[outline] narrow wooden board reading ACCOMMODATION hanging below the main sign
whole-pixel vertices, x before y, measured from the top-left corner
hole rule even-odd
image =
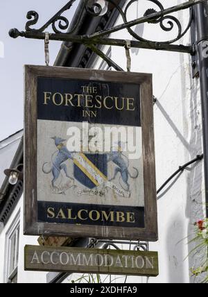
[[[156,252],[25,246],[26,271],[157,276]]]

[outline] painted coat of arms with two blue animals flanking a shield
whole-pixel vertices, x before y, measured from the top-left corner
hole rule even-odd
[[[69,188],[73,188],[79,196],[105,195],[108,189],[119,196],[131,196],[130,179],[137,179],[139,170],[132,167],[134,172],[130,172],[130,162],[122,151],[121,142],[118,143],[118,149],[110,153],[76,153],[67,149],[67,139],[51,139],[57,149],[51,155],[51,162],[44,162],[42,171],[51,175],[53,194],[66,194]],[[72,174],[67,169],[67,162],[73,167]],[[109,163],[113,168],[110,176]],[[63,183],[66,178],[67,183]],[[80,185],[84,188],[80,189]]]

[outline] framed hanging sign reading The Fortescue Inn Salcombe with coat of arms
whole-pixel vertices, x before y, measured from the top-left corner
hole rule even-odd
[[[152,76],[25,77],[25,234],[157,240]]]

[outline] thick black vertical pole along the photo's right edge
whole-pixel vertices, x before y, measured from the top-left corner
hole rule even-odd
[[[208,217],[208,5],[207,1],[196,6],[197,48],[202,102],[202,132],[205,166],[205,201]]]

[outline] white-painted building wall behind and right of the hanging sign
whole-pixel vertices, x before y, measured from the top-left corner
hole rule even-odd
[[[183,1],[161,1],[164,7],[171,7]],[[139,1],[130,6],[128,18],[136,19],[145,8],[154,7],[150,1]],[[147,3],[147,6],[144,4]],[[182,25],[188,24],[189,10],[177,12]],[[121,24],[121,18],[117,24]],[[170,40],[175,35],[162,31],[155,24],[138,25],[133,29],[151,40]],[[176,32],[176,31],[173,31]],[[110,37],[132,40],[126,31]],[[190,44],[189,34],[180,44]],[[179,42],[178,42],[179,43]],[[105,52],[107,48],[105,49]],[[185,53],[131,49],[131,71],[153,74],[153,94],[157,98],[154,106],[155,157],[157,189],[178,167],[202,153],[202,114],[200,106],[199,79],[192,79],[191,57]],[[112,47],[112,60],[126,69],[125,49]],[[98,68],[101,60],[96,62]],[[205,216],[205,187],[203,162],[185,170],[158,196],[159,241],[150,244],[150,251],[159,252],[159,276],[148,282],[198,282],[190,277],[190,269],[202,255],[189,255],[194,244],[188,244],[194,235],[193,223]],[[189,237],[189,238],[188,238]],[[187,258],[187,259],[186,259]],[[186,259],[186,260],[185,260]],[[139,282],[139,278],[128,278]],[[143,281],[144,280],[143,278]]]

